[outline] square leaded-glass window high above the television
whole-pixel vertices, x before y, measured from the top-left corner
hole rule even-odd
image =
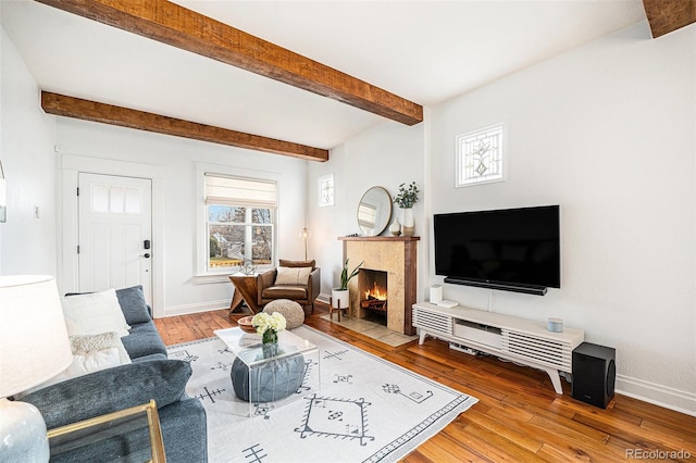
[[[457,137],[457,187],[505,180],[505,125]]]

